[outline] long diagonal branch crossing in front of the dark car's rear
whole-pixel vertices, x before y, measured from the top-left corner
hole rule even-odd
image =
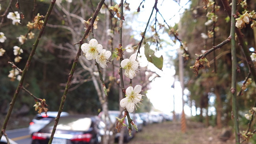
[[[55,133],[55,131],[56,131],[56,127],[57,127],[58,122],[59,122],[59,117],[60,117],[60,114],[61,114],[61,112],[62,112],[62,110],[63,110],[65,100],[66,100],[66,98],[67,98],[67,93],[68,93],[68,91],[69,91],[69,87],[70,87],[70,84],[71,84],[71,80],[72,80],[74,71],[75,71],[75,69],[76,69],[76,65],[77,65],[77,63],[78,63],[78,58],[79,58],[80,55],[81,55],[81,51],[82,51],[82,50],[81,50],[81,45],[83,44],[83,41],[85,40],[85,38],[88,37],[91,28],[93,28],[93,24],[94,24],[94,22],[95,22],[95,19],[96,19],[97,15],[98,15],[98,13],[99,13],[99,11],[100,11],[100,9],[101,9],[103,3],[104,3],[104,0],[101,0],[101,1],[98,3],[98,6],[97,6],[97,8],[96,8],[96,10],[95,10],[95,13],[93,14],[93,17],[91,18],[90,24],[88,25],[87,29],[85,30],[85,33],[84,33],[82,39],[81,39],[79,42],[76,43],[76,44],[80,44],[80,46],[79,46],[78,52],[77,52],[77,54],[76,54],[76,57],[75,57],[75,59],[74,59],[73,65],[72,65],[72,68],[71,68],[70,73],[69,73],[69,78],[68,78],[68,81],[67,81],[67,85],[66,85],[66,87],[65,87],[65,90],[64,90],[64,92],[63,92],[63,96],[62,96],[62,98],[61,98],[61,103],[60,103],[60,105],[59,105],[58,114],[57,114],[57,117],[56,117],[56,119],[55,119],[54,127],[53,127],[53,129],[52,129],[52,134],[51,134],[51,137],[50,137],[50,140],[49,140],[49,143],[48,143],[48,144],[51,144],[51,143],[52,143],[52,139],[53,139],[54,133]]]

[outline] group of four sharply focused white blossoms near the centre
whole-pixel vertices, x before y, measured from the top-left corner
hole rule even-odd
[[[111,52],[103,49],[101,44],[98,44],[96,39],[91,39],[88,43],[81,45],[81,50],[85,55],[86,59],[91,60],[95,59],[96,63],[102,68],[106,68]],[[130,79],[133,79],[137,73],[137,68],[139,63],[136,61],[136,54],[132,54],[129,59],[123,59],[121,61],[121,67],[125,69],[124,75]],[[137,103],[140,103],[141,99],[141,85],[136,85],[133,87],[128,87],[126,89],[126,98],[123,98],[120,101],[121,107],[127,109],[128,112],[132,113],[134,108],[138,106]]]

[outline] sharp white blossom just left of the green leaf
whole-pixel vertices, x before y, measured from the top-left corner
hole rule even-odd
[[[125,69],[124,75],[133,79],[139,67],[139,63],[136,61],[136,54],[132,54],[129,59],[123,59],[121,61],[121,67]]]

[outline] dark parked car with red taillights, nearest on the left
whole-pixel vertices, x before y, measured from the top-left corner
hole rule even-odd
[[[32,144],[48,144],[55,121],[32,135]],[[105,124],[98,116],[64,116],[59,119],[52,144],[100,144]]]

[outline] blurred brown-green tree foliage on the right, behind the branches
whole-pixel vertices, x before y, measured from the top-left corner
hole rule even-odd
[[[229,36],[230,24],[226,23],[225,18],[227,17],[226,11],[224,11],[221,0],[216,0],[217,5],[221,6],[219,11],[216,11],[218,20],[216,26],[219,30],[215,32],[215,46]],[[247,1],[249,4],[249,1]],[[252,4],[252,3],[251,3]],[[253,3],[255,6],[255,3]],[[210,68],[205,66],[204,69],[199,71],[198,76],[195,76],[193,70],[189,66],[193,66],[195,63],[195,54],[203,54],[201,50],[209,50],[213,46],[213,38],[208,38],[207,41],[202,39],[201,33],[206,33],[207,30],[211,30],[212,26],[206,27],[204,23],[207,21],[206,13],[211,11],[211,9],[203,9],[204,4],[200,0],[191,0],[191,6],[187,9],[180,19],[179,24],[176,24],[176,28],[179,29],[179,37],[182,42],[186,42],[187,51],[192,59],[184,58],[184,76],[185,85],[191,92],[189,95],[188,104],[191,103],[190,100],[194,100],[195,106],[200,109],[208,109],[208,105],[202,105],[200,103],[204,99],[204,93],[215,94],[215,108],[217,109],[221,106],[221,121],[224,126],[233,125],[231,121],[231,97],[230,97],[230,83],[231,83],[231,51],[230,44],[226,44],[221,48],[215,50],[216,57],[216,70],[214,68],[213,53],[207,55],[208,61],[210,61]],[[241,6],[237,6],[239,11],[243,11]],[[254,36],[253,31],[250,26],[242,30],[245,33],[245,41],[248,43],[248,48],[254,46]],[[240,72],[237,73],[237,92],[241,90],[241,84],[249,73],[247,68],[247,63],[243,58],[243,53],[241,52],[239,46],[237,45],[237,61]],[[175,61],[176,73],[178,73],[178,61]],[[215,73],[216,72],[216,73]],[[250,85],[245,91],[242,92],[243,95],[237,97],[238,109],[239,111],[249,110],[254,105],[255,101],[255,85]],[[220,97],[221,103],[217,102],[217,96]],[[207,98],[207,97],[205,97]],[[209,98],[209,96],[208,96]],[[206,103],[208,100],[206,100]],[[218,105],[219,104],[219,105]],[[191,104],[190,104],[191,105]],[[214,116],[213,116],[214,117]],[[242,120],[244,115],[241,115]],[[198,116],[195,116],[196,120],[199,120]],[[215,126],[216,118],[209,118],[210,124]],[[241,122],[241,124],[246,124]],[[247,122],[248,124],[248,122]]]

